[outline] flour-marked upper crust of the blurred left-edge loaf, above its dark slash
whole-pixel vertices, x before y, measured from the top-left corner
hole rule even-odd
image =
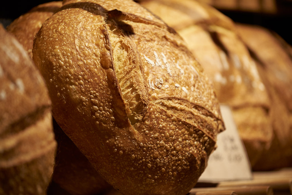
[[[2,26],[0,33],[0,135],[4,137],[34,122],[25,121],[25,116],[34,119],[50,111],[51,101],[43,78],[20,43]]]

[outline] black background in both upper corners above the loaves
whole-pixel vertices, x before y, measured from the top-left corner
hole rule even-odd
[[[6,27],[15,18],[26,13],[34,6],[49,2],[50,0],[9,1],[2,2],[0,6],[0,22]],[[122,1],[122,0],[121,0]],[[254,1],[254,0],[250,0]],[[277,34],[292,45],[292,0],[277,0],[276,13],[263,13],[261,11],[240,11],[218,8],[235,22],[261,25]]]

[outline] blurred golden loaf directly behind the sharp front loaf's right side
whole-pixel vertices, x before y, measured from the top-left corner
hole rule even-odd
[[[270,147],[270,102],[234,22],[194,0],[149,0],[141,4],[173,27],[188,43],[214,83],[220,103],[230,105],[253,166]]]

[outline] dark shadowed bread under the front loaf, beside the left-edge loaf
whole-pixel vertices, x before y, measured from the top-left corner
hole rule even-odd
[[[62,194],[60,189],[55,188],[57,185],[71,195],[102,194],[112,189],[55,120],[53,127],[58,148],[52,177],[54,184],[50,185],[49,194]]]

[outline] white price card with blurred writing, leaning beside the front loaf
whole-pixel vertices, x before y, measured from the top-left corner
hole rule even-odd
[[[220,105],[220,110],[226,130],[218,134],[217,149],[210,155],[198,182],[252,179],[251,166],[232,111],[227,105]]]

